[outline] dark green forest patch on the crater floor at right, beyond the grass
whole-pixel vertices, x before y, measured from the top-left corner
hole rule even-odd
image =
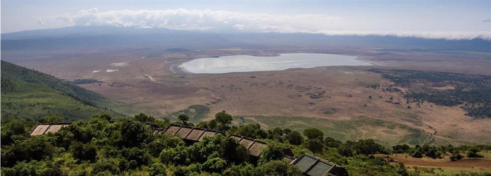
[[[466,115],[491,118],[491,76],[414,70],[370,71],[381,73],[400,87],[408,88],[404,94],[408,102],[424,101],[440,106],[461,106]],[[432,87],[452,86],[453,89],[438,90]],[[386,88],[394,89],[392,87]]]

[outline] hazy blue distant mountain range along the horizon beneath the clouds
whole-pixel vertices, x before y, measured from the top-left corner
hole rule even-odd
[[[1,34],[1,50],[117,47],[351,46],[388,49],[491,52],[484,39],[445,40],[394,36],[328,36],[307,33],[213,33],[110,26],[72,26]]]

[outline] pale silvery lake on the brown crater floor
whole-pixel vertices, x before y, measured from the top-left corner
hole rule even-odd
[[[355,56],[315,53],[290,53],[273,57],[236,55],[195,59],[180,65],[180,67],[191,73],[229,73],[316,66],[371,66],[370,63],[356,58]]]

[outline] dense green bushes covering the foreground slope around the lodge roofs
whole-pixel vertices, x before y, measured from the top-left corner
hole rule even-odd
[[[387,150],[371,139],[341,142],[329,136],[324,138],[324,134],[317,129],[306,130],[310,137],[304,139],[297,131],[280,128],[265,131],[257,124],[241,127],[225,124],[220,127],[227,128],[227,133],[256,136],[257,140],[266,142],[267,146],[256,160],[249,158],[246,147],[223,135],[205,137],[200,142],[187,145],[178,136],[154,135],[143,123],[152,121],[152,118],[145,116],[139,114],[130,119],[116,118],[110,123],[108,120],[113,118],[101,115],[74,122],[59,132],[40,136],[26,135],[28,128],[32,127],[26,121],[8,121],[1,126],[1,174],[301,176],[302,172],[296,166],[284,162],[285,147],[293,149],[295,156],[304,152],[315,153],[345,166],[354,176],[412,174],[404,165],[388,164],[383,158],[374,157],[373,154],[386,154]],[[158,121],[154,122],[160,123]],[[9,140],[9,143],[3,144],[3,140]],[[463,157],[459,153],[467,152],[467,155],[475,156],[472,153],[491,150],[491,146],[397,145],[392,149],[415,157],[438,157],[451,153],[451,158],[457,160]]]

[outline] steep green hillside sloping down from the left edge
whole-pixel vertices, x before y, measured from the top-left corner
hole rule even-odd
[[[61,116],[64,121],[115,114],[103,96],[48,74],[1,61],[1,119]]]

